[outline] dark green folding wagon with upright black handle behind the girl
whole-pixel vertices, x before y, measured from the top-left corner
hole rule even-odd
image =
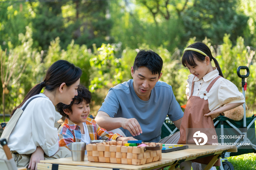
[[[246,69],[246,75],[241,75],[240,70]],[[245,98],[245,90],[247,83],[245,82],[245,78],[247,78],[250,74],[250,70],[246,66],[239,66],[237,68],[238,77],[242,78],[242,93]],[[237,156],[248,153],[256,153],[256,136],[255,136],[255,120],[256,116],[247,117],[245,113],[245,103],[244,107],[244,118],[240,121],[231,120],[225,116],[219,116],[214,119],[214,127],[216,129],[216,133],[218,136],[231,136],[229,139],[218,139],[219,143],[241,143],[237,146],[238,152],[226,152],[225,155],[222,155],[222,162],[220,170],[234,169],[233,165],[227,161],[227,157]],[[250,135],[247,135],[250,134]],[[236,138],[236,136],[240,136],[240,138]],[[233,138],[234,137],[234,138]],[[244,145],[243,145],[244,144]],[[246,145],[245,145],[246,144]]]

